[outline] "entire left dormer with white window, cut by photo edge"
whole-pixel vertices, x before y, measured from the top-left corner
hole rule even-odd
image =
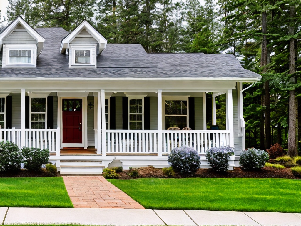
[[[45,39],[22,17],[17,17],[0,34],[2,67],[36,67],[44,42]]]

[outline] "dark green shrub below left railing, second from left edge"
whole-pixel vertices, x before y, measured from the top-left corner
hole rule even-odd
[[[48,149],[23,147],[21,150],[24,157],[24,168],[28,170],[41,170],[42,165],[49,162]]]

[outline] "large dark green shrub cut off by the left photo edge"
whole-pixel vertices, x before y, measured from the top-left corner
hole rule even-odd
[[[0,172],[18,171],[23,156],[18,146],[10,141],[0,142]]]

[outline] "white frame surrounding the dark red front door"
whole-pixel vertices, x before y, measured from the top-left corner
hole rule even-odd
[[[59,121],[60,125],[61,148],[88,148],[88,94],[89,92],[57,92],[57,121]],[[82,143],[63,143],[63,99],[82,99]]]

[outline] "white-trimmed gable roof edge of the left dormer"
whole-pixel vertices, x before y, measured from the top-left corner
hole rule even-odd
[[[40,53],[42,52],[43,48],[44,48],[44,43],[45,43],[45,39],[36,31],[34,30],[32,27],[29,26],[29,24],[27,24],[25,22],[25,20],[18,16],[13,22],[11,22],[4,30],[2,30],[2,32],[0,33],[0,50],[2,49],[2,44],[3,44],[3,39],[5,39],[11,32],[14,31],[14,29],[18,26],[21,25],[22,27],[24,27],[24,29],[37,41],[37,45],[38,45],[38,50],[37,50],[37,55],[40,55]]]

